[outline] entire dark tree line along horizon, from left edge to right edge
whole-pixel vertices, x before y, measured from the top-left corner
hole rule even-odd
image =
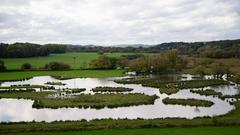
[[[159,53],[176,50],[181,55],[208,58],[240,58],[240,39],[220,40],[209,42],[169,42],[149,47],[116,47],[94,45],[61,45],[61,44],[33,44],[33,43],[0,43],[0,58],[24,58],[47,56],[50,53],[65,52],[146,52]]]

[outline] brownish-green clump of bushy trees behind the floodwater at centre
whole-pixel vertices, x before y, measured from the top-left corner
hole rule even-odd
[[[129,68],[138,73],[169,73],[181,71],[187,61],[177,51],[163,52],[157,55],[122,55],[120,58],[99,56],[89,65],[93,69]]]

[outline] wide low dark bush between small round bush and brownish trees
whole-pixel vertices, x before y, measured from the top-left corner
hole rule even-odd
[[[45,69],[48,70],[68,70],[70,66],[68,64],[62,62],[50,62],[49,64],[45,65]]]

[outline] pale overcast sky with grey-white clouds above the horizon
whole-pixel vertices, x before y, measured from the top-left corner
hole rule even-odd
[[[156,44],[240,38],[240,0],[0,0],[0,42]]]

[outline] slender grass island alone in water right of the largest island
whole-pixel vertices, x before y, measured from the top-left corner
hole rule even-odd
[[[162,100],[164,104],[173,104],[173,105],[189,105],[189,106],[203,106],[203,107],[210,107],[214,103],[207,100],[200,100],[200,99],[177,99],[177,98],[164,98]]]

